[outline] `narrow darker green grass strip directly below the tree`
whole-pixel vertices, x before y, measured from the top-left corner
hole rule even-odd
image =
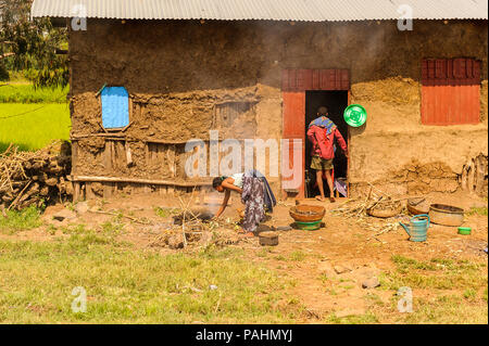
[[[68,90],[68,87],[35,89],[30,84],[10,82],[0,87],[0,103],[66,103]]]

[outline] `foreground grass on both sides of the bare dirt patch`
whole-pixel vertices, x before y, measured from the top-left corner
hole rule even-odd
[[[240,247],[158,254],[121,241],[125,225],[114,217],[97,229],[83,223],[48,227],[50,240],[26,241],[39,227],[32,207],[0,216],[0,323],[302,323],[306,309],[291,294],[297,278]],[[24,233],[25,234],[25,233]],[[24,235],[22,235],[23,238]],[[264,247],[259,257],[267,256]],[[253,255],[250,255],[253,256]],[[291,265],[308,255],[284,257]],[[381,285],[365,292],[364,315],[324,315],[322,323],[487,324],[487,262],[393,255]],[[215,290],[211,289],[215,285]],[[86,291],[86,311],[72,304]],[[409,286],[413,312],[399,313],[396,292]],[[386,302],[380,291],[390,293]],[[334,293],[330,299],[335,299]]]

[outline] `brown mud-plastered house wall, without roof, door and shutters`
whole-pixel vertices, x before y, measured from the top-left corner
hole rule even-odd
[[[366,181],[411,192],[419,179],[456,190],[466,163],[487,157],[487,22],[415,21],[413,31],[396,22],[89,21],[87,28],[70,33],[74,175],[189,181],[188,139],[205,140],[210,129],[223,139],[281,138],[284,68],[350,71],[351,102],[368,112],[366,126],[350,132],[352,193]],[[421,125],[422,59],[462,56],[482,62],[481,123]],[[124,86],[131,99],[130,126],[112,138],[118,151],[99,124],[104,84]],[[278,190],[279,178],[271,180]]]

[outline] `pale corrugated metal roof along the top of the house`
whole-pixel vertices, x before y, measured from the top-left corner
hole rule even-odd
[[[33,17],[72,17],[76,5],[87,17],[117,20],[398,20],[409,4],[415,20],[487,20],[488,0],[34,0]]]

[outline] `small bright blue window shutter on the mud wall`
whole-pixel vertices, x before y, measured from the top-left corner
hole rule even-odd
[[[102,125],[118,128],[129,125],[129,94],[124,87],[105,87],[102,90]]]

